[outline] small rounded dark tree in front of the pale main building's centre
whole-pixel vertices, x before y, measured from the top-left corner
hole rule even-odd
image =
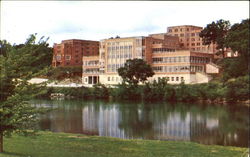
[[[124,83],[137,86],[139,82],[145,82],[148,77],[154,75],[149,64],[142,59],[129,59],[124,67],[118,69],[118,74],[122,77]]]

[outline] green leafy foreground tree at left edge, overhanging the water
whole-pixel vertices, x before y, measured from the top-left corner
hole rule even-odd
[[[35,43],[31,35],[24,46],[9,47],[0,55],[0,152],[3,152],[3,136],[12,132],[33,133],[39,110],[28,100],[39,94],[42,86],[29,84],[28,80],[47,72],[49,66],[43,63],[47,40]]]

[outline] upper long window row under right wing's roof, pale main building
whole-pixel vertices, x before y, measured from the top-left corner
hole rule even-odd
[[[208,57],[196,57],[196,56],[176,56],[176,57],[157,57],[152,58],[153,63],[208,63],[210,59]]]

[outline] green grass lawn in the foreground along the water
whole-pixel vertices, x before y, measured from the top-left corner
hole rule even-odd
[[[247,148],[39,132],[4,138],[0,157],[246,157]]]

